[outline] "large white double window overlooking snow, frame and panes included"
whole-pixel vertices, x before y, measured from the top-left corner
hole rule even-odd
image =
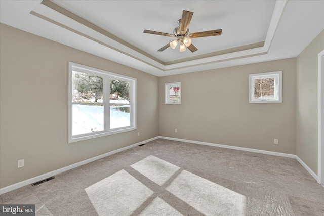
[[[69,143],[136,129],[136,79],[69,62]]]

